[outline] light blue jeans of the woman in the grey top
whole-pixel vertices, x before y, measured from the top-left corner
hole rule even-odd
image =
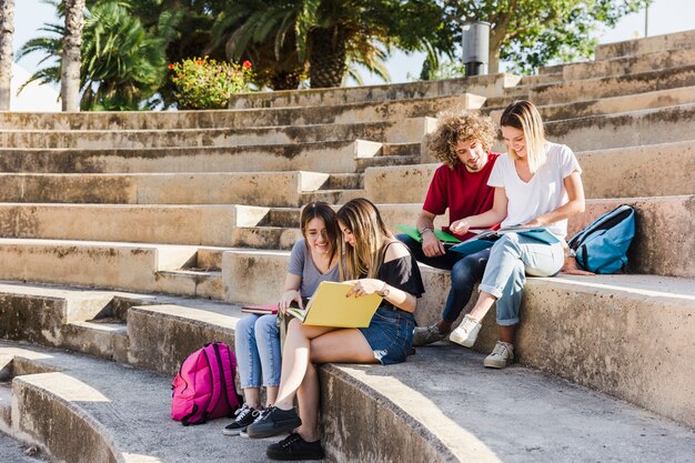
[[[241,387],[280,385],[282,358],[278,315],[249,313],[236,323],[234,350]]]

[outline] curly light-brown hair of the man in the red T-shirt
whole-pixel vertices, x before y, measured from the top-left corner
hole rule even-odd
[[[427,140],[427,148],[451,169],[461,162],[455,151],[457,142],[475,139],[490,151],[497,138],[492,119],[479,111],[443,111],[436,117],[439,122]]]

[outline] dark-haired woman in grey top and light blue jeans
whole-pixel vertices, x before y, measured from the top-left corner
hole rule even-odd
[[[279,310],[284,312],[292,302],[302,305],[322,281],[340,281],[338,266],[339,228],[335,212],[325,202],[304,207],[300,218],[303,240],[292,248],[284,291]],[[261,410],[261,382],[266,391],[266,404],[273,404],[280,385],[281,351],[278,315],[246,314],[239,323],[234,348],[244,404],[234,421],[222,431],[238,435],[253,422]]]

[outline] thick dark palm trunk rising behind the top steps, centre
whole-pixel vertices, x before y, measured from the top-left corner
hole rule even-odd
[[[310,32],[309,79],[312,89],[340,87],[348,69],[348,34],[339,27]]]

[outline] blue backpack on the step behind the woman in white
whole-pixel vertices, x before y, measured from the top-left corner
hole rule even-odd
[[[627,249],[635,235],[635,210],[621,205],[594,220],[572,236],[567,245],[577,264],[594,273],[615,273],[627,263]]]

